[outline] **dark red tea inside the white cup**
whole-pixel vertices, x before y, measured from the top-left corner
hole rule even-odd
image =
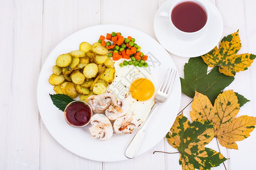
[[[207,23],[207,12],[199,3],[184,1],[171,11],[171,21],[183,32],[196,32]]]

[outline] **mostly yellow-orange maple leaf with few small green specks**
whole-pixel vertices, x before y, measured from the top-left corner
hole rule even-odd
[[[192,121],[200,118],[212,122],[214,136],[217,137],[220,145],[238,149],[236,141],[249,137],[256,125],[256,117],[236,117],[239,111],[240,104],[233,90],[218,95],[214,106],[207,96],[196,92],[190,116]]]

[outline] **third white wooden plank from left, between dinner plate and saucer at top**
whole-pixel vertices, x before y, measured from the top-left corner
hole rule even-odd
[[[110,11],[113,7],[115,10]],[[101,23],[126,25],[155,38],[153,25],[157,9],[158,0],[102,1]],[[153,155],[152,152],[155,150],[164,150],[163,140],[138,158],[118,163],[104,163],[104,169],[164,169],[164,155]]]

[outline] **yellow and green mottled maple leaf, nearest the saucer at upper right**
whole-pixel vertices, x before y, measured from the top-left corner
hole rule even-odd
[[[234,76],[239,71],[247,70],[255,59],[254,54],[238,54],[241,49],[241,41],[238,31],[221,40],[220,48],[217,46],[209,53],[201,56],[209,67],[218,66],[220,73]]]

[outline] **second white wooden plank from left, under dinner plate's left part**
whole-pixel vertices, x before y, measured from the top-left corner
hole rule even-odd
[[[100,0],[49,1],[44,0],[43,57],[65,37],[79,29],[100,24]],[[59,145],[41,124],[40,169],[102,169],[94,162],[72,154]]]

